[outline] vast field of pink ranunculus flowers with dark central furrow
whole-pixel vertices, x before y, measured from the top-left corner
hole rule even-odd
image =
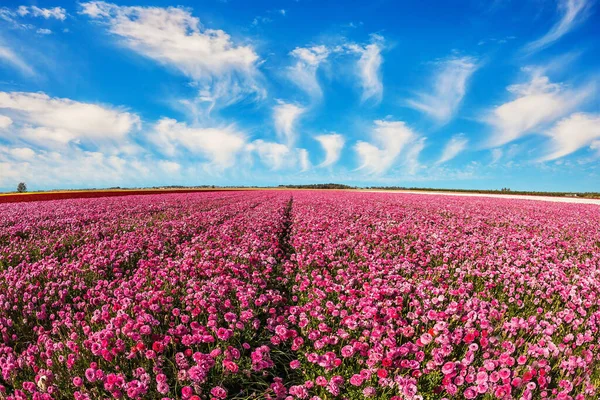
[[[0,398],[597,399],[600,208],[252,191],[0,204]]]

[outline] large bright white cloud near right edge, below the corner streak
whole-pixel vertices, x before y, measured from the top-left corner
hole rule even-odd
[[[529,82],[508,87],[515,97],[488,112],[483,120],[493,134],[489,147],[502,146],[524,135],[536,133],[549,123],[574,111],[594,93],[594,85],[568,88],[550,82],[539,70],[530,70]]]

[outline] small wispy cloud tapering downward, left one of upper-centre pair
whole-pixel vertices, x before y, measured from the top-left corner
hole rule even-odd
[[[317,79],[317,70],[319,65],[327,60],[329,53],[329,49],[323,45],[296,47],[290,52],[296,63],[288,68],[288,77],[313,98],[319,98],[323,94]]]

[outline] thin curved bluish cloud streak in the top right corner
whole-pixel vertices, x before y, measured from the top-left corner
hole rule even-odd
[[[588,17],[591,4],[591,0],[559,0],[560,20],[544,36],[525,46],[525,50],[533,52],[543,49],[563,37]]]

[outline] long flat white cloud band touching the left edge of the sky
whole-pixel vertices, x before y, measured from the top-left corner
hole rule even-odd
[[[136,114],[122,109],[45,93],[0,92],[0,112],[13,121],[11,130],[16,130],[18,139],[42,147],[80,141],[121,142],[141,124]]]

